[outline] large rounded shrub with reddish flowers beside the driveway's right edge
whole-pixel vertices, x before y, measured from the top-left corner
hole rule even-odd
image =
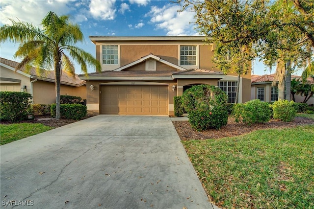
[[[197,131],[220,129],[228,122],[228,96],[217,87],[193,86],[183,93],[182,102],[191,127]]]

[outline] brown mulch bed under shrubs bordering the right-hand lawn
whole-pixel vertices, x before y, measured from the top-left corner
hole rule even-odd
[[[234,118],[228,118],[228,124],[220,130],[205,130],[197,132],[191,128],[188,121],[172,121],[181,140],[189,139],[220,139],[224,137],[235,137],[250,133],[255,130],[269,128],[293,128],[298,125],[314,124],[314,120],[306,117],[295,117],[292,122],[283,122],[279,120],[271,120],[267,123],[244,125],[236,123]]]

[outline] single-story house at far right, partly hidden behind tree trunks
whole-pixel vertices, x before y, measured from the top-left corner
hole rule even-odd
[[[271,86],[274,80],[275,74],[270,75],[252,75],[251,76],[251,99],[260,99],[265,102],[274,102],[278,100],[278,87]],[[291,80],[293,78],[301,79],[301,76],[291,75]],[[295,94],[295,101],[302,102],[304,97]],[[290,100],[292,100],[292,94],[290,94]],[[310,98],[307,102],[308,104],[314,103],[314,98]]]

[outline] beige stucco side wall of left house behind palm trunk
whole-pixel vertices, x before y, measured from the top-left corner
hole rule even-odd
[[[55,103],[55,83],[37,80],[33,82],[34,104]],[[75,87],[61,84],[60,95],[80,96],[86,99],[86,86]]]

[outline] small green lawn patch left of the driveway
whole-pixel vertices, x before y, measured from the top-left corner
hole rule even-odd
[[[0,145],[24,139],[51,129],[51,127],[40,123],[0,124]]]

